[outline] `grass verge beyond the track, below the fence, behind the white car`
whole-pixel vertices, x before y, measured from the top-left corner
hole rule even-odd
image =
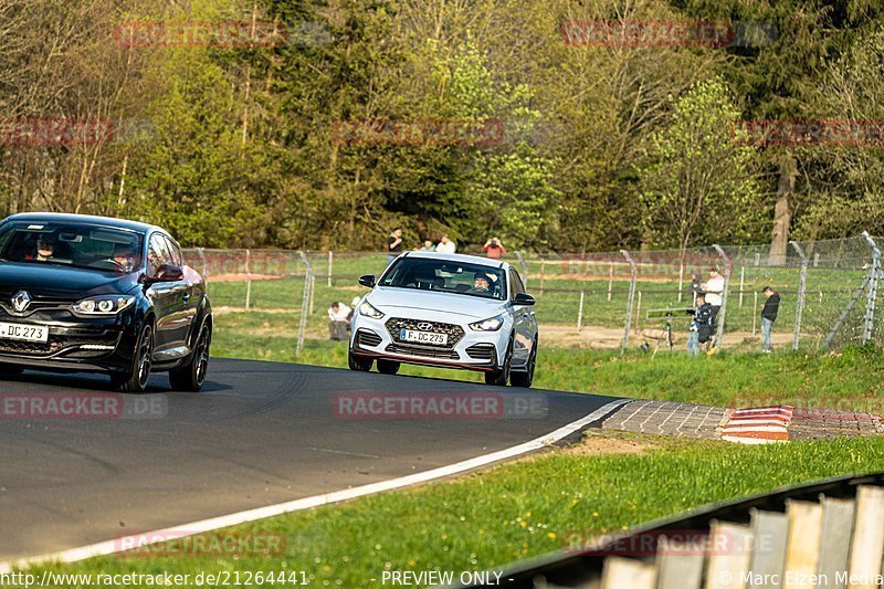
[[[347,366],[347,344],[305,340],[295,355],[298,315],[224,313],[217,316],[213,354],[233,358]],[[541,334],[543,335],[543,334]],[[543,341],[543,339],[541,339]],[[884,354],[686,354],[552,348],[541,344],[536,388],[690,401],[725,407],[790,402],[803,407],[884,413]],[[403,365],[402,375],[478,382],[482,375]]]

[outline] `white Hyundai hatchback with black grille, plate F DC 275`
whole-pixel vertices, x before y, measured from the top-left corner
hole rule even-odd
[[[394,375],[401,362],[485,372],[488,385],[530,387],[537,362],[533,296],[516,269],[474,255],[407,252],[352,317],[349,367]]]

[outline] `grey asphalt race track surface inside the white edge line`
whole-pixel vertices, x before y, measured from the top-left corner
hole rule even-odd
[[[0,381],[0,401],[102,397],[107,382],[25,372]],[[125,406],[112,417],[2,414],[0,560],[414,474],[538,438],[613,400],[219,359],[200,393],[169,390],[165,375],[150,385],[143,396],[108,393]],[[344,418],[340,408],[359,406],[336,396],[354,392],[480,395],[503,400],[504,409],[478,404],[485,409],[465,418]]]

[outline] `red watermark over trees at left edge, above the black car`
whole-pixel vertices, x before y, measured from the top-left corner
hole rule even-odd
[[[157,127],[148,119],[12,118],[0,120],[0,146],[73,147],[148,143]]]

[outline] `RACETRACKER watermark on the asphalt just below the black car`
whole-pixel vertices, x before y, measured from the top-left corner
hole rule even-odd
[[[169,414],[165,395],[133,397],[118,392],[4,392],[0,420],[159,419]]]

